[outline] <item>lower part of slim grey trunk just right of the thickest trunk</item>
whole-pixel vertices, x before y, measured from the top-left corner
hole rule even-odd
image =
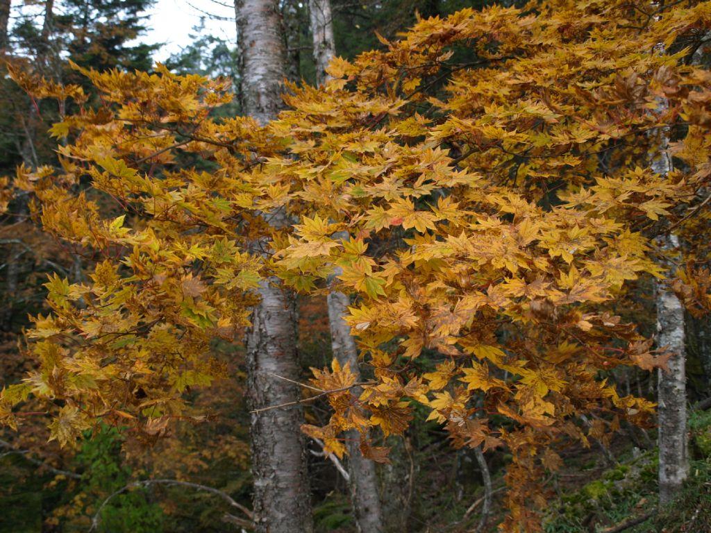
[[[338,273],[336,274],[338,275]],[[350,366],[356,380],[360,381],[358,368],[358,350],[351,337],[351,328],[343,321],[348,312],[348,296],[339,291],[328,294],[328,322],[331,326],[331,348],[341,366]],[[356,391],[357,393],[357,391]],[[360,453],[360,435],[352,429],[346,434],[348,446],[348,471],[351,475],[351,503],[355,514],[355,523],[361,533],[380,533],[383,531],[383,517],[378,496],[378,478],[375,475],[375,463]]]

